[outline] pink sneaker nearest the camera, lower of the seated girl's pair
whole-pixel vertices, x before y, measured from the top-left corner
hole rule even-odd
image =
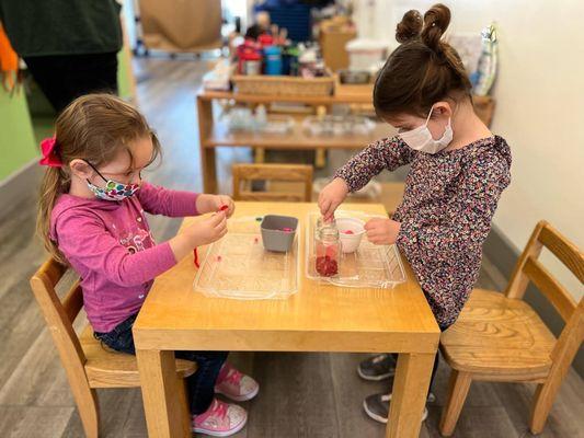
[[[241,406],[227,404],[215,399],[210,407],[193,416],[193,431],[211,437],[230,437],[248,423],[248,413]]]

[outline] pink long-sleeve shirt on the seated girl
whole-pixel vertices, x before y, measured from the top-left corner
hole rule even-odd
[[[153,279],[176,264],[168,242],[156,244],[145,212],[196,216],[197,196],[144,182],[122,201],[58,197],[50,238],[81,277],[83,306],[95,332],[111,332],[138,312]]]

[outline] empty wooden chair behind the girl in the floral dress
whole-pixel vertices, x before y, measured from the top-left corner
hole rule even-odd
[[[584,281],[584,254],[548,222],[535,228],[505,293],[474,290],[458,321],[440,338],[440,350],[453,368],[440,433],[450,436],[472,380],[538,384],[529,428],[543,429],[556,394],[584,339],[584,299],[570,292],[538,261],[550,250]],[[523,301],[529,281],[551,301],[565,322],[556,338]]]

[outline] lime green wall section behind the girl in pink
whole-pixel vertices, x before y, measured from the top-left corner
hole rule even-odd
[[[0,183],[37,155],[24,90],[10,96],[0,87]]]

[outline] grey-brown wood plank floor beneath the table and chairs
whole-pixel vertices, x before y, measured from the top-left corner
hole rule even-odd
[[[174,188],[201,188],[195,126],[195,89],[206,61],[149,59],[136,62],[141,110],[158,131],[164,159],[146,177]],[[229,163],[249,161],[247,149],[221,150],[221,187],[229,186]],[[332,163],[344,160],[332,154]],[[327,174],[331,170],[322,172]],[[0,222],[0,437],[82,437],[65,372],[37,311],[27,279],[44,258],[33,238],[34,191]],[[171,237],[179,221],[152,218],[158,240]],[[504,279],[484,262],[480,286],[502,287]],[[80,322],[82,324],[83,321]],[[375,438],[385,427],[368,419],[363,399],[389,391],[387,383],[362,381],[356,373],[363,355],[233,354],[232,360],[253,374],[262,389],[245,403],[248,438]],[[434,392],[436,403],[421,436],[438,437],[437,422],[445,401],[448,369],[440,364]],[[473,383],[455,437],[514,438],[530,436],[527,420],[533,385]],[[103,437],[145,437],[139,390],[99,391]],[[584,437],[584,383],[571,370],[562,385],[542,437]]]

